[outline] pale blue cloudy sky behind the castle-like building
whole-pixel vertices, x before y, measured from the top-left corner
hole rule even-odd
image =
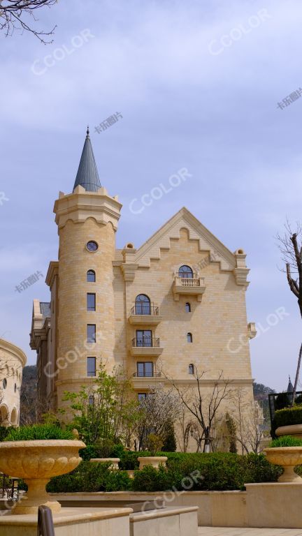
[[[35,362],[32,300],[48,301],[57,259],[53,204],[72,190],[89,124],[101,182],[124,205],[117,247],[140,246],[185,205],[231,251],[244,248],[253,375],[287,387],[301,319],[275,234],[302,219],[302,98],[286,100],[302,87],[301,0],[59,0],[38,18],[37,29],[57,24],[50,45],[0,36],[0,336]],[[131,212],[180,168],[192,177]]]

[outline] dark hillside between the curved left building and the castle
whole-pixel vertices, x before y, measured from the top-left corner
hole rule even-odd
[[[29,424],[36,419],[37,371],[36,365],[23,368],[20,395],[20,424]]]

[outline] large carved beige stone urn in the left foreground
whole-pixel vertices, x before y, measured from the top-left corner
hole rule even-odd
[[[59,512],[61,505],[52,501],[45,486],[52,477],[64,475],[82,460],[78,454],[86,447],[75,440],[33,440],[0,442],[0,471],[24,479],[27,494],[13,508],[13,514],[37,514],[46,505]]]

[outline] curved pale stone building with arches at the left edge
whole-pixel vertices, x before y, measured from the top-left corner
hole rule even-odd
[[[20,390],[26,355],[0,338],[0,425],[17,426],[20,421]]]

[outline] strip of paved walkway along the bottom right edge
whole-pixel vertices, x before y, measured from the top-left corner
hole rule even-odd
[[[302,536],[302,528],[199,527],[199,536]]]

